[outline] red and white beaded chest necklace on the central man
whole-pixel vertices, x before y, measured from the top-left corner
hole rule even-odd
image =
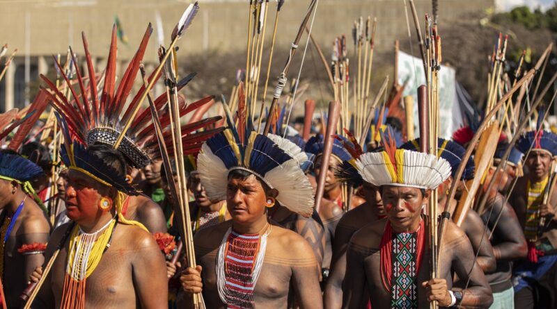
[[[216,266],[219,297],[227,308],[255,308],[253,290],[265,258],[269,233],[270,225],[262,235],[238,234],[232,227],[224,234]]]

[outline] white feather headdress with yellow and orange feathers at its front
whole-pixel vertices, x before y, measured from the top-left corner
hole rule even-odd
[[[383,142],[384,151],[364,153],[356,160],[364,181],[377,187],[397,185],[435,189],[450,176],[450,164],[444,158],[396,149],[394,141],[386,142],[384,138]]]

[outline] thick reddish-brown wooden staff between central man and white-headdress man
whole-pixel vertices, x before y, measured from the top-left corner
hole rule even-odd
[[[333,150],[334,133],[338,117],[340,116],[340,103],[331,101],[329,103],[329,118],[327,119],[327,131],[325,131],[323,153],[321,155],[321,172],[317,181],[317,190],[315,192],[315,211],[319,213],[321,210],[321,199],[325,192],[325,180],[327,179],[327,170],[329,169],[329,159]]]

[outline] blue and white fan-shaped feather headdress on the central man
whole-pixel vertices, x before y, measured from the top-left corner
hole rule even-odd
[[[249,123],[250,117],[246,122],[244,138],[240,140],[226,103],[223,103],[223,107],[228,128],[207,140],[197,159],[198,172],[207,197],[212,200],[226,199],[228,173],[243,169],[278,190],[276,200],[282,206],[300,215],[310,216],[314,203],[313,187],[300,167],[305,153],[281,137],[256,133],[253,124]]]

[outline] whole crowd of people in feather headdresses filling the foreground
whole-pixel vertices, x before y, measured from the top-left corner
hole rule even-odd
[[[557,134],[543,108],[517,138],[496,130],[493,153],[471,125],[427,153],[395,117],[363,142],[330,132],[332,115],[299,131],[272,116],[267,133],[242,95],[202,119],[214,99],[187,104],[169,66],[152,98],[149,29],[116,78],[116,36],[102,78],[84,35],[87,74],[73,55],[73,69],[57,62],[25,117],[0,115],[3,308],[557,308]]]

